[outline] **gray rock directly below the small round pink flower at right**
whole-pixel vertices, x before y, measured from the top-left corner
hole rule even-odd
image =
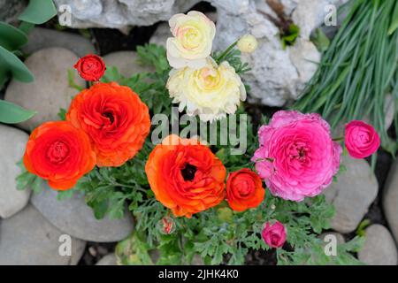
[[[345,156],[342,164],[347,171],[337,176],[337,182],[325,190],[325,196],[336,209],[331,223],[333,230],[351,233],[378,195],[379,185],[365,160]]]

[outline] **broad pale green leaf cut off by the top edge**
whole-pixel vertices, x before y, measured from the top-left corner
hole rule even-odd
[[[57,15],[57,9],[52,0],[30,0],[27,9],[19,15],[18,19],[41,25],[55,15]]]

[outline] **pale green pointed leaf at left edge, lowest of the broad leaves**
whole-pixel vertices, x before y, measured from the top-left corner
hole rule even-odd
[[[31,119],[36,111],[23,109],[17,104],[0,100],[0,122],[16,124]]]

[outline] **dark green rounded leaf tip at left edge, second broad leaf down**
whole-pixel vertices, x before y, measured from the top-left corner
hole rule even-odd
[[[27,43],[27,34],[4,22],[0,22],[0,34],[0,46],[6,50],[18,50]]]

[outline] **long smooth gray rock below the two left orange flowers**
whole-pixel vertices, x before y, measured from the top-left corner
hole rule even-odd
[[[98,220],[93,210],[84,201],[84,196],[74,194],[73,198],[57,200],[57,191],[45,187],[43,192],[32,195],[31,202],[42,212],[50,223],[75,238],[86,241],[120,241],[133,231],[133,219],[130,213],[125,218]]]

